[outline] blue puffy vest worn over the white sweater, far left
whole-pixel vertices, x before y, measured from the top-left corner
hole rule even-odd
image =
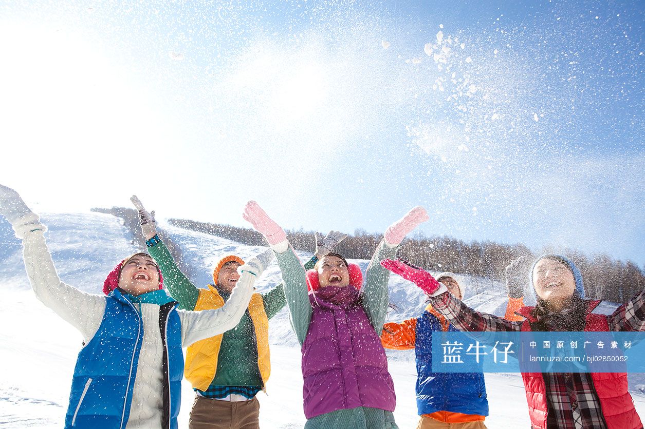
[[[177,428],[184,356],[181,320],[170,301],[159,309],[163,356],[163,426]],[[106,297],[99,330],[79,352],[65,428],[124,429],[130,415],[134,379],[143,343],[143,320],[127,295]]]

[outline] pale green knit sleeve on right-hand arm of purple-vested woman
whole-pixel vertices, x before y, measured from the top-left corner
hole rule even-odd
[[[385,315],[388,310],[388,280],[390,271],[381,267],[381,261],[386,258],[394,258],[397,247],[390,247],[382,240],[372,256],[370,265],[365,272],[365,285],[363,286],[363,308],[379,336],[385,322]]]

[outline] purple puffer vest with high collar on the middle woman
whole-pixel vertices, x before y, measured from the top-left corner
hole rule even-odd
[[[312,320],[303,352],[304,415],[308,419],[357,406],[394,411],[394,384],[381,339],[354,287],[310,294]]]

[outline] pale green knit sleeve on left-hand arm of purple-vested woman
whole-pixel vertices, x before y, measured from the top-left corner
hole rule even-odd
[[[284,296],[291,316],[291,326],[298,342],[303,345],[309,330],[309,322],[312,319],[312,305],[309,303],[306,274],[291,246],[283,253],[276,253],[275,258],[283,274]]]

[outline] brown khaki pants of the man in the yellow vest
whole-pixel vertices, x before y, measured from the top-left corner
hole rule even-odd
[[[195,396],[190,410],[189,429],[259,429],[260,403],[250,401],[219,401]]]

